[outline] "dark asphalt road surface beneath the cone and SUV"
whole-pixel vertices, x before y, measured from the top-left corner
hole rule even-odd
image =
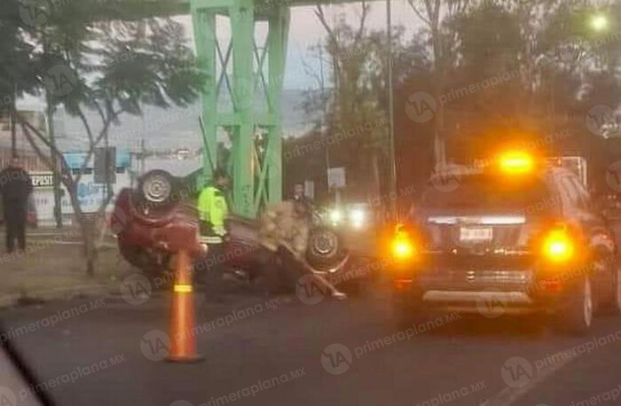
[[[161,361],[168,293],[134,293],[0,316],[63,405],[621,404],[621,318],[597,319],[586,337],[506,316],[438,315],[399,331],[380,287],[315,304],[232,294],[198,298],[206,360],[179,364]]]

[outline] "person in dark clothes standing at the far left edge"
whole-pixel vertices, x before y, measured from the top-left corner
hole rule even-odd
[[[12,253],[17,239],[20,250],[26,249],[26,221],[28,196],[32,181],[28,172],[21,168],[20,159],[13,157],[11,164],[0,172],[0,193],[6,224],[6,250]]]

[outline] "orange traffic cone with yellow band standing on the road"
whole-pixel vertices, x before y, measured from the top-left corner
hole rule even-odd
[[[203,361],[205,357],[196,353],[192,263],[186,251],[180,251],[175,262],[169,331],[171,346],[166,361],[196,363]]]

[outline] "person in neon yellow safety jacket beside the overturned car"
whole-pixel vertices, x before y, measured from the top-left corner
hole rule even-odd
[[[208,244],[208,257],[202,262],[205,270],[206,297],[209,301],[222,301],[224,264],[224,220],[229,215],[225,193],[231,179],[222,169],[216,169],[212,182],[200,191],[198,209],[200,235]]]

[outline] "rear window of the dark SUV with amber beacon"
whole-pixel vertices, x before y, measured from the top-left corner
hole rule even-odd
[[[548,190],[540,178],[519,181],[499,176],[461,176],[451,190],[435,187],[429,182],[423,192],[421,207],[427,209],[490,210],[544,214],[560,206],[559,199]]]

